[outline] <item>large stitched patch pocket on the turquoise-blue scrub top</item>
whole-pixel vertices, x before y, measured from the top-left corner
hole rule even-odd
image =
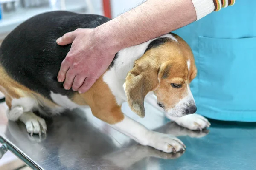
[[[199,37],[198,113],[256,122],[256,37]]]

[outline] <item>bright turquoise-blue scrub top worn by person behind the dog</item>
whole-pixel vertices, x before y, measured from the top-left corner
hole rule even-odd
[[[197,113],[256,122],[256,0],[237,0],[174,33],[192,48]]]

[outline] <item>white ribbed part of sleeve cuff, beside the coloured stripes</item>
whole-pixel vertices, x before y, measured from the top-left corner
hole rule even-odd
[[[214,3],[212,0],[192,0],[195,7],[196,20],[200,20],[202,17],[210,14],[214,11]]]

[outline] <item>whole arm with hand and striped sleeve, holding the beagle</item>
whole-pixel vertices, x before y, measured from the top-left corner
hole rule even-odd
[[[58,81],[64,88],[87,91],[122,48],[151,40],[186,26],[234,0],[147,0],[95,29],[78,29],[57,40],[72,43],[61,64]]]

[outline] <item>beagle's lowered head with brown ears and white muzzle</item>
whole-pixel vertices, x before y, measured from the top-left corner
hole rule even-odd
[[[124,89],[131,110],[145,116],[144,98],[153,91],[157,104],[170,116],[196,112],[189,88],[197,69],[189,45],[180,37],[158,38],[148,45],[128,72]]]

